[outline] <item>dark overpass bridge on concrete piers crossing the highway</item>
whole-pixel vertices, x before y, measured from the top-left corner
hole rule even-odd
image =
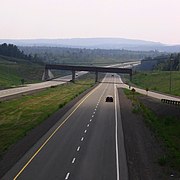
[[[75,82],[76,71],[95,72],[95,82],[98,81],[98,73],[99,72],[129,74],[130,75],[130,80],[132,79],[132,69],[129,69],[129,68],[46,64],[45,65],[45,72],[44,72],[44,80],[50,79],[48,71],[49,70],[53,70],[53,69],[55,69],[55,70],[69,70],[69,71],[71,71],[72,72],[72,82]]]

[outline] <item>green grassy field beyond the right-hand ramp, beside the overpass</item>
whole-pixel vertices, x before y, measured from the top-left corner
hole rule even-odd
[[[167,71],[138,72],[133,75],[132,83],[144,89],[180,96],[180,71],[171,72],[171,92],[170,72]]]

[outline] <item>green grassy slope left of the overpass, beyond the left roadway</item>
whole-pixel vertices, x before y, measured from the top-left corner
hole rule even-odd
[[[44,65],[24,59],[0,56],[0,89],[41,81]]]

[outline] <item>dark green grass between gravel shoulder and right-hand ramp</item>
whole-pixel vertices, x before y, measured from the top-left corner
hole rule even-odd
[[[157,160],[160,165],[168,165],[180,171],[180,119],[179,117],[161,116],[145,107],[139,100],[138,93],[132,94],[124,90],[125,94],[132,100],[133,112],[141,113],[146,124],[162,142],[165,154]]]

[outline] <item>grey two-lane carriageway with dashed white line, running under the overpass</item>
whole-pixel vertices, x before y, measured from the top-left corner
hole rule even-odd
[[[119,80],[107,74],[2,179],[128,180]]]

